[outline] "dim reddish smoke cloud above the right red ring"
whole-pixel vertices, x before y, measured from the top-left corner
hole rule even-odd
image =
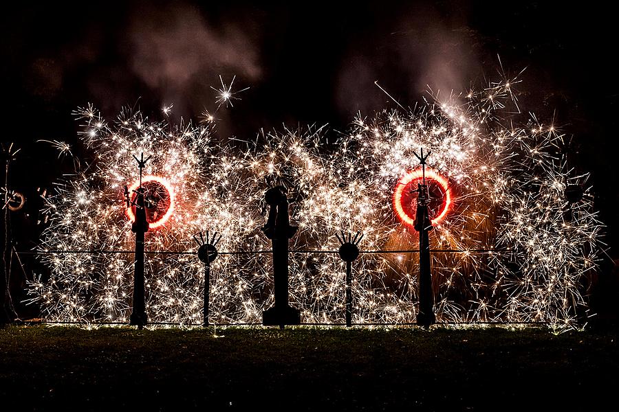
[[[466,88],[479,78],[484,54],[466,19],[466,10],[446,18],[431,6],[411,5],[398,20],[371,30],[373,38],[360,39],[343,60],[336,92],[340,111],[383,108],[391,99],[375,81],[404,106],[419,101],[428,88],[445,96]]]

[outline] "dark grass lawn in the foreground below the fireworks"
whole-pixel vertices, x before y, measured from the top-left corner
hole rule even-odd
[[[616,331],[9,326],[0,354],[3,411],[591,411],[619,391]]]

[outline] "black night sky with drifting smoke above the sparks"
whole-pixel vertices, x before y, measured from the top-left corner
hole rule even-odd
[[[221,137],[329,124],[345,133],[354,115],[455,93],[525,71],[517,84],[524,115],[536,113],[573,136],[570,164],[591,172],[609,255],[618,258],[616,152],[618,87],[613,10],[587,2],[354,1],[23,3],[3,10],[2,139],[21,148],[10,186],[36,198],[36,187],[72,163],[39,139],[80,148],[72,111],[92,103],[107,119],[122,106],[171,122],[217,117]],[[72,2],[71,2],[72,3]],[[600,52],[601,51],[601,52]],[[236,76],[234,107],[217,108]],[[69,164],[70,163],[70,164]],[[14,231],[32,247],[30,201]],[[30,219],[32,219],[30,216]],[[25,235],[27,233],[27,236]],[[18,239],[19,233],[16,235]],[[25,239],[28,237],[28,239]]]

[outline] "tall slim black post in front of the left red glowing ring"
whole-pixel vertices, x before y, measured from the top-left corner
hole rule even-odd
[[[131,200],[127,186],[124,187],[124,197],[127,209],[135,206],[135,220],[131,225],[131,231],[135,233],[135,264],[133,266],[133,310],[129,318],[129,325],[136,325],[138,328],[144,327],[148,323],[146,317],[146,304],[144,298],[144,234],[149,231],[149,222],[146,220],[146,190],[142,186],[142,169],[151,157],[144,159],[144,153],[140,159],[133,156],[140,168],[140,186],[135,192],[135,201]]]

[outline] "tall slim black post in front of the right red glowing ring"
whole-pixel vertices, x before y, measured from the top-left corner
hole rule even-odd
[[[432,274],[430,271],[430,238],[429,231],[433,229],[430,216],[428,216],[428,203],[430,194],[426,185],[426,159],[424,156],[413,152],[422,165],[422,184],[417,183],[417,211],[415,213],[415,230],[419,232],[419,312],[417,312],[417,325],[429,326],[436,322],[434,314],[434,293],[432,291]]]

